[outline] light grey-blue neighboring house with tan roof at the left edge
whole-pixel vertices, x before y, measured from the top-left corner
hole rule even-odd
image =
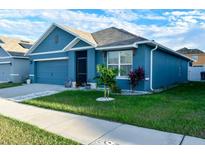
[[[31,42],[0,36],[0,82],[22,82],[28,78]]]

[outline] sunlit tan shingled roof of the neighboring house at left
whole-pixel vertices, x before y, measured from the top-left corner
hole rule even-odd
[[[23,56],[32,46],[32,41],[19,38],[0,36],[0,47],[12,56]]]

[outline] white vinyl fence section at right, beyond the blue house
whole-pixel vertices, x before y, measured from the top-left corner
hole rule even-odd
[[[189,67],[188,80],[189,81],[202,81],[201,72],[205,72],[205,67]]]

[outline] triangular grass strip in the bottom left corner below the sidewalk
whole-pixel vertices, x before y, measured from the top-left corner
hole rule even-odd
[[[67,145],[77,143],[35,126],[0,115],[0,144]]]

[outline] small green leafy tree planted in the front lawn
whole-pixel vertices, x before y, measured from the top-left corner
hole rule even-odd
[[[97,65],[98,75],[96,80],[99,84],[104,84],[104,97],[109,97],[109,88],[116,84],[115,77],[117,76],[117,69],[107,68],[104,65]]]

